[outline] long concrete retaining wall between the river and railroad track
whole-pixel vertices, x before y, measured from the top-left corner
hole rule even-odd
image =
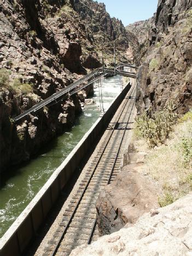
[[[96,123],[84,135],[65,161],[55,170],[34,199],[10,226],[0,241],[1,256],[17,256],[24,253],[28,243],[36,235],[39,226],[44,222],[45,217],[57,200],[60,191],[65,187],[80,161],[90,150],[90,145],[94,144],[106,129],[130,87],[131,85],[128,84],[119,96],[115,98],[103,117],[97,119]]]

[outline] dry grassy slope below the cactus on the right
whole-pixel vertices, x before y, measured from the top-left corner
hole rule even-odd
[[[172,125],[164,144],[151,149],[135,128],[136,148],[148,153],[143,171],[154,180],[159,191],[159,205],[164,207],[192,190],[192,112]]]

